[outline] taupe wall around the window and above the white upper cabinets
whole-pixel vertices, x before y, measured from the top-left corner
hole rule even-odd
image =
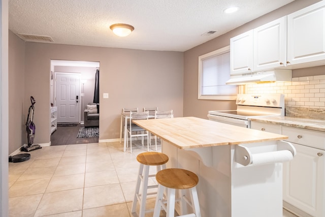
[[[272,20],[288,15],[319,0],[296,0],[278,10],[270,12],[251,22],[248,22],[231,32],[210,40],[204,44],[194,47],[184,52],[184,116],[197,116],[207,119],[209,110],[229,110],[235,109],[235,101],[225,100],[198,100],[198,58],[200,55],[209,53],[213,50],[230,45],[230,39],[250,29],[261,26]],[[313,70],[314,71],[314,70]],[[313,72],[310,72],[312,74]],[[295,70],[293,70],[293,77]]]

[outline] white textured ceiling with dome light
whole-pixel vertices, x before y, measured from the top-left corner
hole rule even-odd
[[[9,0],[9,29],[55,44],[185,51],[294,0]],[[239,6],[235,14],[224,14]],[[109,26],[135,27],[117,37]],[[215,30],[209,36],[202,34]]]

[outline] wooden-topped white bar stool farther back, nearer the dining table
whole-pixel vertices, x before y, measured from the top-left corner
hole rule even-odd
[[[149,167],[157,166],[157,172],[166,169],[166,163],[168,162],[168,156],[160,152],[144,152],[137,156],[137,161],[140,163],[136,193],[134,195],[132,203],[132,212],[136,212],[137,202],[140,204],[139,217],[144,217],[146,212],[152,212],[151,210],[146,210],[146,200],[147,195],[156,194],[156,192],[147,193],[148,189],[157,188],[158,185],[148,185],[149,177],[154,177],[156,174],[149,175]],[[142,192],[140,191],[140,184],[142,186]]]

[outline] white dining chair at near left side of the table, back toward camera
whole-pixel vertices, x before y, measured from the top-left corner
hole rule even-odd
[[[132,153],[132,138],[133,137],[141,137],[141,144],[144,146],[144,137],[147,137],[147,147],[149,151],[149,133],[145,129],[139,127],[138,125],[133,125],[132,120],[142,120],[142,119],[148,119],[148,111],[146,112],[133,112],[130,111],[130,118],[129,118],[129,124],[127,126],[127,132],[130,137],[130,149]],[[136,134],[133,134],[136,133]],[[128,137],[126,137],[126,144],[128,144]]]

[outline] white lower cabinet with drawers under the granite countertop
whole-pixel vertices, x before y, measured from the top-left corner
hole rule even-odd
[[[251,128],[286,135],[297,150],[283,163],[283,207],[301,217],[325,217],[325,133],[258,121]]]

